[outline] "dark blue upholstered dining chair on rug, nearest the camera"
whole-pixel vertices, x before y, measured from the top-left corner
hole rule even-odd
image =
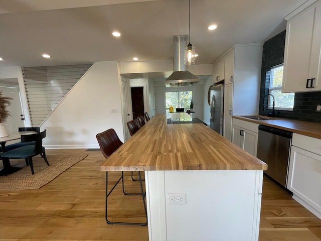
[[[46,157],[45,148],[42,146],[42,139],[44,139],[45,137],[46,137],[46,130],[41,133],[22,135],[21,136],[22,143],[34,142],[35,144],[34,145],[29,144],[26,146],[13,149],[8,152],[4,152],[1,156],[2,158],[8,158],[8,159],[27,160],[31,168],[31,173],[35,174],[32,157],[42,154],[46,164],[49,166],[49,163]]]

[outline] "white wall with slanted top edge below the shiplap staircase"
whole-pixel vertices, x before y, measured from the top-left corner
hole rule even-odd
[[[124,140],[118,63],[96,62],[41,125],[46,148],[99,148],[96,134],[115,129]],[[117,109],[117,113],[110,113]]]

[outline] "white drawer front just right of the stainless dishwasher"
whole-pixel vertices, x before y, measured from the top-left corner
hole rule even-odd
[[[292,146],[321,155],[321,139],[293,133]]]

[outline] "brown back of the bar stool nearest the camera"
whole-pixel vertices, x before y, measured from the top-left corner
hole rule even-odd
[[[114,129],[109,129],[96,135],[100,150],[105,158],[114,153],[123,143]]]

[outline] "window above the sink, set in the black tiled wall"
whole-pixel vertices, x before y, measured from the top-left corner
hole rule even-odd
[[[267,71],[270,73],[269,94],[274,96],[275,109],[293,110],[294,93],[282,93],[283,64],[274,66]],[[272,108],[273,98],[269,95],[269,108]]]

